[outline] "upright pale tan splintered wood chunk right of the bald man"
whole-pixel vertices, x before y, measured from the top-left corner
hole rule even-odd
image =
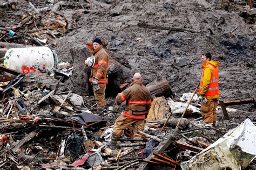
[[[146,120],[154,121],[163,119],[165,115],[165,103],[165,97],[154,97]]]

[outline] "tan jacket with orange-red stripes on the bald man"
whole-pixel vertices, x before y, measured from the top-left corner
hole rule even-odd
[[[119,93],[116,97],[118,104],[126,101],[122,115],[132,119],[145,119],[151,107],[150,91],[143,86],[142,81],[136,81],[131,87]]]

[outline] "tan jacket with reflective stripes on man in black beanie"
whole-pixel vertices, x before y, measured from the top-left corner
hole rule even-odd
[[[92,77],[89,81],[97,79],[99,84],[107,83],[107,69],[109,68],[109,55],[102,46],[96,48],[93,52],[95,55],[95,64],[92,66]]]

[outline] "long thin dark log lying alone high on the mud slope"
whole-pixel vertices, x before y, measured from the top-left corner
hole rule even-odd
[[[160,26],[160,25],[150,25],[150,24],[145,24],[145,23],[138,23],[137,25],[139,27],[143,27],[144,29],[169,30],[169,33],[170,33],[170,31],[179,31],[179,32],[188,31],[188,32],[192,32],[192,33],[199,32],[197,30],[192,30],[192,29],[183,29],[183,28]]]

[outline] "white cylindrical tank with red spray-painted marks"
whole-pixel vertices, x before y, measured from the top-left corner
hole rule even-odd
[[[58,66],[57,54],[49,47],[10,48],[4,55],[4,67],[23,74],[51,73]]]

